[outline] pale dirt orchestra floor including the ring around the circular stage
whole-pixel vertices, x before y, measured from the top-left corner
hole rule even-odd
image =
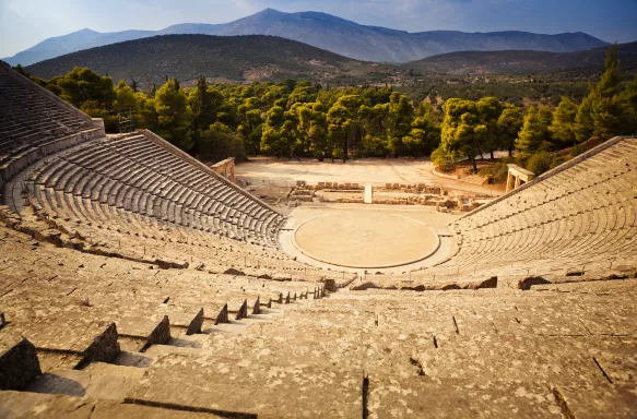
[[[402,273],[439,263],[455,249],[448,224],[458,215],[438,213],[430,206],[304,203],[286,210],[288,219],[279,234],[282,249],[300,262],[327,270],[362,274],[364,270],[354,266],[406,263],[373,270]],[[304,229],[306,222],[309,222],[305,225],[308,229]],[[434,235],[440,243],[427,256],[436,244]],[[427,258],[410,263],[423,256]]]

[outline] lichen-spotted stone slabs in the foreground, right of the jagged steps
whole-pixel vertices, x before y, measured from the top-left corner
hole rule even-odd
[[[559,418],[554,396],[559,392],[582,417],[630,417],[634,383],[630,362],[622,357],[634,354],[637,331],[622,322],[635,309],[629,298],[616,296],[617,306],[600,318],[603,296],[570,295],[565,301],[559,292],[535,291],[432,291],[400,299],[387,291],[339,292],[279,322],[213,340],[197,356],[168,356],[151,366],[128,396],[201,409],[243,408],[259,417],[355,417],[362,409],[378,418],[485,411],[507,417],[515,406],[520,417]],[[307,333],[314,322],[321,325],[320,345]],[[604,335],[612,333],[629,335]],[[616,382],[609,383],[593,357]],[[202,364],[220,367],[207,371]],[[297,367],[281,367],[288,364]],[[204,380],[207,386],[194,384]],[[329,395],[334,390],[337,398]],[[267,403],[278,391],[294,391],[307,403]]]

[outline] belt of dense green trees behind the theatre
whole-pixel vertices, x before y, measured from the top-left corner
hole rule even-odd
[[[267,154],[346,161],[430,154],[446,169],[465,158],[476,168],[479,154],[518,149],[519,164],[542,172],[561,161],[555,153],[561,148],[637,131],[637,76],[622,75],[616,46],[607,50],[599,82],[589,84],[580,100],[564,96],[539,107],[487,93],[414,101],[391,87],[327,88],[294,80],[209,85],[200,77],[186,88],[167,77],[143,93],[135,80],[114,85],[86,68],[48,81],[31,77],[104,118],[108,132],[118,132],[121,112],[132,112],[135,128],[148,128],[204,160]]]

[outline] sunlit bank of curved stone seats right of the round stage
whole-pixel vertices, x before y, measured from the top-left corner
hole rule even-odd
[[[632,169],[637,158],[629,154],[634,149],[629,141],[622,141],[534,188],[459,219],[455,228],[460,235],[460,249],[453,263],[502,259],[506,264],[519,254],[532,258],[551,253],[573,258],[575,263],[590,254],[593,259],[625,253],[634,258],[629,252],[637,214],[633,190],[637,171]],[[594,178],[573,173],[581,170],[580,166],[590,169],[598,165],[599,173],[590,175]],[[558,185],[563,190],[555,193]]]

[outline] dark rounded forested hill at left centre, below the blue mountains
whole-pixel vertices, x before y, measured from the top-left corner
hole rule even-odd
[[[346,84],[373,81],[393,71],[389,65],[352,60],[319,48],[273,36],[163,35],[91,48],[30,65],[43,79],[87,67],[115,82],[134,77],[162,84],[166,76],[184,83],[201,75],[209,82],[302,79]]]

